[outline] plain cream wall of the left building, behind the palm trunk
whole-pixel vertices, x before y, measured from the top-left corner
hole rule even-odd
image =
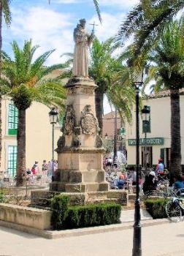
[[[16,135],[8,135],[8,106],[9,100],[2,101],[2,154],[1,154],[1,170],[7,170],[8,162],[8,146],[16,146]],[[31,168],[34,161],[49,161],[52,158],[52,125],[49,120],[50,109],[41,103],[34,102],[28,110],[26,110],[26,167]],[[57,140],[61,136],[61,127],[55,125],[55,148],[57,148]],[[55,159],[57,153],[55,152]]]

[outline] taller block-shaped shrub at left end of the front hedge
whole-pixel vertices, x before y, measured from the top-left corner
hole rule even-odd
[[[60,229],[68,213],[69,197],[66,195],[55,195],[50,200],[51,203],[51,225],[53,229]]]

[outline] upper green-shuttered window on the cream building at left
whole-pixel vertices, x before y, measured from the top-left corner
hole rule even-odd
[[[18,132],[18,109],[12,103],[9,104],[8,112],[8,135],[17,135]]]

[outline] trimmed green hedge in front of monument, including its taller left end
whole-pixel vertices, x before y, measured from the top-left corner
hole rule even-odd
[[[51,201],[53,229],[71,229],[110,225],[120,222],[118,203],[100,203],[88,206],[68,206],[66,196],[57,195]]]

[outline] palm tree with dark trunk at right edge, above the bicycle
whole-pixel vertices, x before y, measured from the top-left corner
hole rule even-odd
[[[171,176],[181,174],[180,89],[184,87],[184,18],[169,23],[151,55],[154,61],[150,78],[156,91],[170,91],[171,99]]]

